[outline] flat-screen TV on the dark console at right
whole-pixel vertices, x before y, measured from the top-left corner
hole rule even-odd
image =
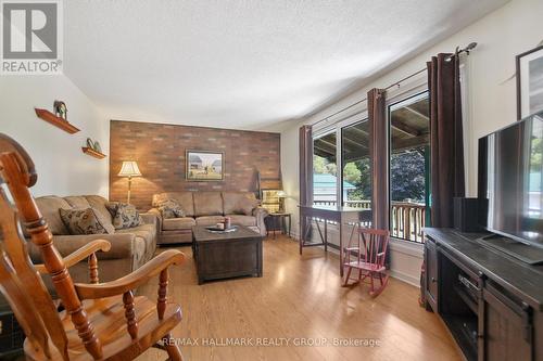
[[[479,140],[489,231],[543,247],[543,113]]]

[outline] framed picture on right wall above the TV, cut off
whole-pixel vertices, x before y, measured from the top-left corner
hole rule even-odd
[[[517,55],[517,117],[543,111],[543,46]]]

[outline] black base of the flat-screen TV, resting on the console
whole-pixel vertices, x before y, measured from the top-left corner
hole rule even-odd
[[[477,240],[482,246],[503,252],[528,265],[543,263],[543,248],[539,248],[500,234],[485,235]]]

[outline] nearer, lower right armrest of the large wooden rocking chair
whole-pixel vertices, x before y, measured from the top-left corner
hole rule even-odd
[[[154,257],[136,271],[118,280],[99,284],[76,283],[75,289],[81,299],[96,299],[123,295],[126,292],[148,283],[149,280],[167,269],[169,266],[179,266],[184,261],[184,253],[176,249],[168,249]]]

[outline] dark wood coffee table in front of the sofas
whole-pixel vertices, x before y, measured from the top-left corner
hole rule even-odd
[[[213,233],[202,225],[192,227],[192,253],[198,284],[240,275],[262,276],[261,234],[237,225],[235,232]]]

